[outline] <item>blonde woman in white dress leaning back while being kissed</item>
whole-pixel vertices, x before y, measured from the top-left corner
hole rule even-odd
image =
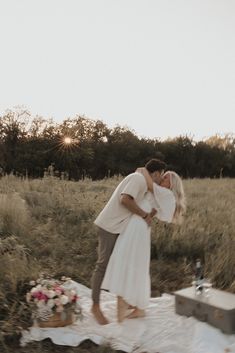
[[[172,171],[163,175],[161,185],[153,183],[145,168],[138,168],[147,181],[148,189],[141,202],[146,212],[165,222],[181,223],[185,211],[184,190],[180,177]],[[116,241],[102,282],[102,289],[117,295],[117,317],[122,322],[131,306],[128,318],[143,317],[150,299],[150,231],[139,216],[133,214]]]

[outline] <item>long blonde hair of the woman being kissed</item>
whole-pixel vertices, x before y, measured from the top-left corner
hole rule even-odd
[[[166,174],[170,174],[170,189],[175,196],[176,207],[172,223],[181,224],[183,215],[186,211],[186,199],[181,178],[176,172],[168,170]]]

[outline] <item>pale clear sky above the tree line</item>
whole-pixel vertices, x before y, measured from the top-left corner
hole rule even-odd
[[[0,0],[0,112],[235,133],[234,0]]]

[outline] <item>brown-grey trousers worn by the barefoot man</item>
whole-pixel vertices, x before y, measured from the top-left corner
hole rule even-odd
[[[91,278],[92,300],[94,304],[99,303],[100,287],[117,237],[118,234],[112,234],[98,228],[98,260]]]

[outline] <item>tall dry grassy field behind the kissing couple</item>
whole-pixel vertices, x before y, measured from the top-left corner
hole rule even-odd
[[[97,248],[93,221],[120,180],[0,179],[0,352],[114,352],[90,341],[76,348],[48,340],[19,348],[18,340],[30,325],[28,282],[40,272],[90,287]],[[235,179],[192,179],[184,186],[183,225],[152,226],[152,296],[190,285],[197,257],[215,287],[235,293]]]

